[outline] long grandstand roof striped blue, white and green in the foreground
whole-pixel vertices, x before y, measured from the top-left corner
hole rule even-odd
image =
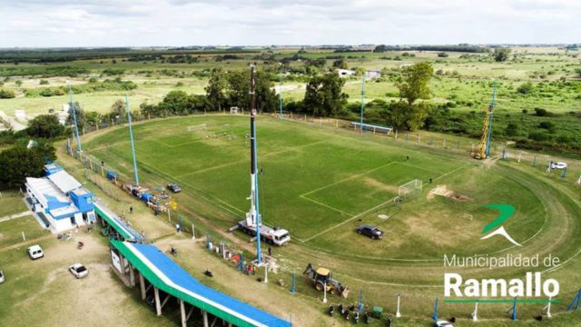
[[[291,327],[291,322],[203,285],[151,244],[111,241],[153,286],[236,326]]]

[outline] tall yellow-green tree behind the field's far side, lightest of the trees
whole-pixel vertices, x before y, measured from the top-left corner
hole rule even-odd
[[[396,86],[399,88],[399,97],[406,99],[410,105],[418,99],[428,99],[431,95],[428,82],[432,74],[434,74],[434,67],[428,62],[402,68],[401,76],[396,82]]]

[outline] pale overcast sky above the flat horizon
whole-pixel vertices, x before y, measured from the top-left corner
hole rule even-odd
[[[581,43],[581,0],[0,0],[0,47]]]

